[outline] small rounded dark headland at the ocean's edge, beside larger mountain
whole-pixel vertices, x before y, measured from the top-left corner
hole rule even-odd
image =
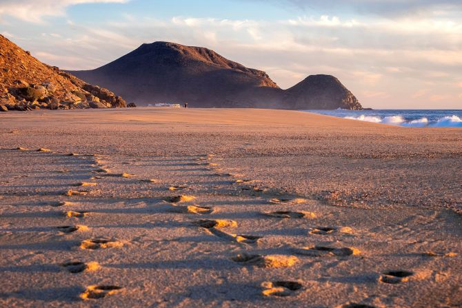
[[[361,110],[356,97],[330,75],[312,75],[286,90],[292,109],[349,109]]]

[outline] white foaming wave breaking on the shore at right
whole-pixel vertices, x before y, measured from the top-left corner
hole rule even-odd
[[[443,116],[435,121],[429,121],[423,117],[412,121],[407,121],[403,116],[344,116],[344,119],[359,120],[373,123],[383,123],[390,125],[399,125],[405,127],[462,127],[462,119],[459,116]]]

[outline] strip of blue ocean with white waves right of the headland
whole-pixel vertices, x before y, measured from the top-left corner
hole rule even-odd
[[[462,110],[302,110],[405,127],[462,127]]]

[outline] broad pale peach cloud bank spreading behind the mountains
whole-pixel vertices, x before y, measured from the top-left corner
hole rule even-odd
[[[78,1],[62,2],[69,6]],[[97,68],[141,43],[174,41],[265,70],[281,88],[308,74],[333,74],[367,107],[425,108],[438,102],[455,108],[462,88],[461,18],[410,15],[390,21],[324,12],[282,20],[155,18],[136,12],[118,16],[91,25],[68,21],[40,25],[39,30],[5,30],[29,39],[20,45],[39,59],[71,70]]]

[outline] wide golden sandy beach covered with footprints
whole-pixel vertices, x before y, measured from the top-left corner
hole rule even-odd
[[[0,306],[460,307],[461,158],[305,112],[6,112]]]

